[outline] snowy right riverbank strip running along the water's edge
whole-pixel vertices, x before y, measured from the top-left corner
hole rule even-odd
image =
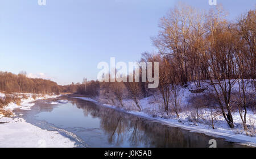
[[[184,92],[184,94],[188,94],[188,92]],[[184,96],[185,97],[185,96]],[[131,100],[124,100],[123,107],[118,107],[110,104],[102,104],[99,102],[99,100],[94,100],[92,98],[88,97],[73,97],[72,98],[78,98],[85,101],[95,102],[98,104],[101,104],[102,106],[113,108],[118,111],[126,112],[128,114],[133,114],[137,116],[141,116],[142,118],[147,118],[150,120],[155,120],[157,122],[160,122],[165,125],[169,125],[171,127],[180,127],[183,129],[187,129],[192,132],[199,132],[204,133],[205,135],[214,136],[226,139],[227,141],[235,142],[235,143],[241,143],[245,145],[249,145],[251,147],[256,147],[256,136],[248,136],[245,134],[245,132],[242,131],[242,127],[240,127],[240,116],[238,113],[233,114],[234,123],[236,124],[236,128],[231,129],[228,127],[228,125],[225,123],[225,120],[222,119],[222,116],[217,116],[216,123],[214,123],[214,129],[210,127],[210,124],[207,124],[207,120],[204,122],[201,120],[200,122],[192,122],[189,119],[189,115],[191,112],[189,111],[183,111],[179,114],[179,119],[175,118],[174,116],[164,116],[159,114],[159,107],[156,106],[155,103],[152,103],[152,98],[154,97],[147,97],[143,98],[140,101],[140,106],[142,107],[142,111],[136,111],[133,108],[135,107],[135,103]],[[210,115],[210,110],[203,109],[201,110],[201,115],[203,115],[203,118],[207,119]],[[254,112],[248,111],[247,112],[247,119],[252,124],[256,121],[256,116]]]

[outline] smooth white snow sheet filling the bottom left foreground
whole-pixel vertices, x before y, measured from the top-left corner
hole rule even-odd
[[[47,131],[22,118],[1,118],[0,147],[75,147],[75,142],[57,131]]]

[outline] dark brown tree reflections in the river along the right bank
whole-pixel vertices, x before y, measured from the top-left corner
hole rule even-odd
[[[72,99],[72,103],[81,108],[85,116],[100,118],[101,128],[108,136],[109,143],[117,146],[127,140],[130,147],[209,147],[208,141],[213,139],[201,133],[191,133],[181,128],[168,127],[111,108],[97,106],[92,102]],[[219,146],[239,147],[224,140],[216,140]]]

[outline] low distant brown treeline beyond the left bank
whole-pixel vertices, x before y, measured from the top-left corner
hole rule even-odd
[[[61,86],[56,82],[42,78],[28,78],[26,72],[18,75],[10,72],[0,72],[0,91],[5,93],[38,93],[60,94]]]

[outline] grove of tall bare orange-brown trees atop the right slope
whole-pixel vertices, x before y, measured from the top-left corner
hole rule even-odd
[[[162,65],[169,65],[182,84],[255,79],[255,10],[241,15],[237,22],[228,22],[225,16],[221,6],[205,13],[184,5],[160,19],[153,44],[162,56]]]

